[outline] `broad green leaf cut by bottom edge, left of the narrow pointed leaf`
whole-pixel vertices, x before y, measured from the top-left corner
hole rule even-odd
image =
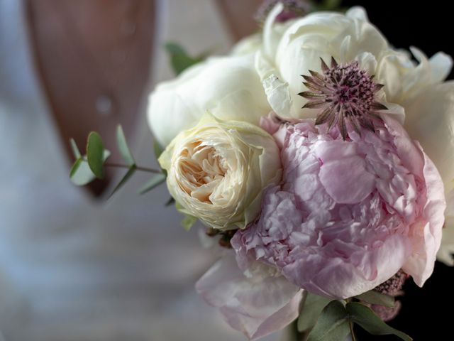
[[[347,310],[340,301],[331,301],[323,308],[307,341],[341,341],[349,334]]]

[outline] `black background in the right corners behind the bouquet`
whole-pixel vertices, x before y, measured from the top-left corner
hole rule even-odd
[[[343,1],[343,6],[365,7],[372,23],[396,48],[414,45],[428,57],[438,51],[454,56],[454,16],[448,1]],[[449,79],[453,79],[451,72]],[[454,151],[453,151],[454,153]],[[410,279],[404,286],[401,313],[389,322],[416,341],[454,340],[454,268],[436,263],[433,276],[423,288]],[[373,337],[357,328],[358,339],[400,340],[394,336]]]

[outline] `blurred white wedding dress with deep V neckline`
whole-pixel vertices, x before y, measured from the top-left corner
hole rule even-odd
[[[150,89],[172,77],[163,42],[176,40],[192,52],[223,53],[231,45],[214,1],[157,2]],[[151,136],[145,114],[140,119],[134,151],[146,163],[153,160]],[[179,226],[175,209],[164,207],[165,186],[140,197],[135,189],[147,178],[138,177],[108,203],[94,202],[70,183],[61,144],[33,65],[23,2],[0,0],[5,340],[244,340],[196,295],[194,283],[214,259],[196,231]]]

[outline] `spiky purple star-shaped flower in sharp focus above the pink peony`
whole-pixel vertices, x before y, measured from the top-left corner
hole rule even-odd
[[[374,121],[382,121],[377,110],[387,109],[375,101],[375,94],[384,85],[374,82],[374,76],[361,70],[358,62],[338,65],[331,58],[331,67],[328,67],[321,59],[321,70],[323,75],[312,70],[309,70],[310,76],[301,75],[309,91],[299,93],[309,99],[303,108],[323,109],[316,124],[327,123],[328,130],[337,125],[344,140],[347,122],[358,134],[361,134],[360,126],[375,131]]]

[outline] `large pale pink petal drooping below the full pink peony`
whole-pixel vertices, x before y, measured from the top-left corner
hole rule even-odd
[[[297,318],[302,289],[256,262],[253,274],[240,271],[234,255],[224,256],[196,283],[205,301],[219,308],[232,328],[250,340],[281,330]]]

